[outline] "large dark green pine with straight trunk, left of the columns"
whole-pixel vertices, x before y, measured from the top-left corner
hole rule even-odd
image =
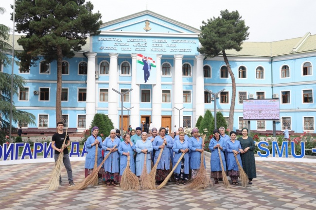
[[[17,53],[22,69],[29,69],[43,56],[45,63],[57,61],[56,122],[62,120],[62,61],[80,51],[89,35],[99,34],[101,14],[85,0],[16,0],[17,32],[23,51]]]

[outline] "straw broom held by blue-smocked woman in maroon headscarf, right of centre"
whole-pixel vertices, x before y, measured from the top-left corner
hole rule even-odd
[[[204,144],[205,137],[206,134],[204,134],[202,137],[202,144]],[[211,178],[208,176],[208,173],[204,166],[204,146],[202,146],[200,169],[198,170],[196,177],[193,179],[193,181],[188,187],[194,190],[204,190],[210,187],[211,185]]]

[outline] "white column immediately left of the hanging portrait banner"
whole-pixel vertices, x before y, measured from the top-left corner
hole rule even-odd
[[[136,84],[136,65],[137,60],[136,56],[137,54],[131,54],[132,56],[132,91],[131,94],[131,107],[134,107],[131,109],[131,126],[133,129],[140,126],[140,85]]]

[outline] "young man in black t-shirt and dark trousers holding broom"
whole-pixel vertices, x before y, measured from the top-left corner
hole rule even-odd
[[[64,146],[64,148],[61,148],[63,143],[64,143],[65,138],[66,138],[65,146]],[[61,152],[64,153],[63,162],[64,162],[65,168],[67,170],[69,185],[75,186],[75,184],[73,183],[73,179],[72,179],[72,170],[71,170],[71,164],[70,164],[68,148],[67,148],[67,146],[69,146],[69,145],[70,145],[70,140],[69,140],[69,136],[67,135],[67,137],[66,137],[66,133],[64,132],[64,123],[59,122],[59,123],[57,123],[57,133],[55,133],[52,137],[52,147],[55,150],[54,158],[55,158],[55,162],[56,162],[59,154]],[[59,186],[61,186],[61,176],[59,177]]]

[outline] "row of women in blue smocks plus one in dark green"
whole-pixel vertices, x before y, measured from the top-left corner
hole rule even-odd
[[[198,129],[193,129],[192,137],[189,138],[184,133],[183,128],[179,128],[179,135],[173,139],[166,135],[166,129],[161,127],[159,130],[152,129],[152,136],[148,137],[146,132],[141,133],[141,139],[134,144],[131,141],[131,135],[126,133],[123,136],[123,142],[116,137],[116,130],[112,129],[110,136],[106,137],[102,143],[98,137],[99,129],[92,128],[92,134],[87,139],[86,150],[86,177],[91,174],[95,164],[95,152],[97,155],[97,164],[101,164],[103,158],[109,153],[105,160],[104,167],[99,171],[105,184],[109,186],[117,185],[120,182],[123,172],[127,165],[127,157],[130,156],[129,167],[136,176],[140,176],[146,161],[147,173],[152,169],[152,164],[157,163],[156,182],[159,184],[168,176],[171,168],[178,165],[174,171],[176,184],[186,184],[189,180],[189,171],[192,171],[191,178],[195,178],[201,164],[201,154],[204,149],[202,138],[199,136]],[[252,178],[256,177],[254,162],[254,144],[247,136],[247,130],[242,130],[243,137],[236,140],[236,133],[230,132],[230,140],[224,139],[218,130],[214,130],[214,136],[211,139],[209,148],[211,150],[211,178],[214,178],[215,184],[223,178],[224,169],[231,177],[232,184],[238,184],[238,165],[234,154],[237,156],[240,164],[243,164],[244,170],[249,177],[249,184],[252,184]],[[245,135],[244,135],[245,134]],[[96,146],[98,149],[96,149]],[[104,150],[104,157],[102,157]],[[225,158],[225,154],[227,158]],[[160,158],[158,160],[159,154]],[[184,155],[182,156],[182,154]],[[240,155],[241,154],[241,155]],[[179,158],[182,156],[182,159]],[[220,158],[222,162],[220,162]],[[205,158],[203,159],[205,166]]]

